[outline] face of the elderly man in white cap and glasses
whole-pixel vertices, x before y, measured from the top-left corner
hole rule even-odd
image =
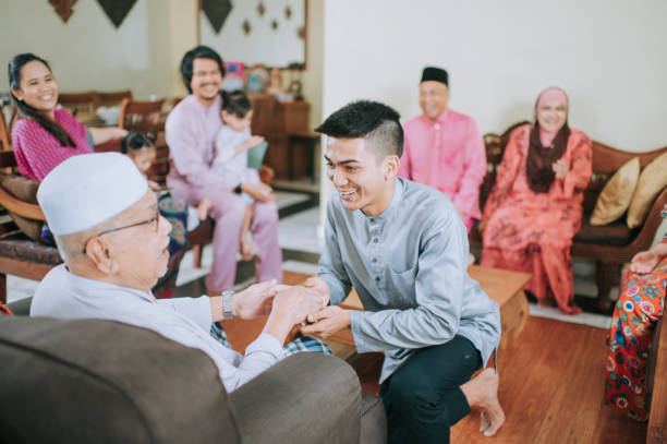
[[[119,265],[118,277],[131,288],[153,288],[167,272],[171,231],[171,224],[158,213],[155,193],[148,190],[114,219],[114,225],[128,226],[104,235]]]

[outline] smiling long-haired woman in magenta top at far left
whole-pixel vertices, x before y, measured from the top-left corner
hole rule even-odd
[[[70,156],[92,153],[86,128],[58,105],[58,83],[49,64],[33,53],[9,63],[12,145],[22,176],[41,181]],[[90,131],[95,144],[126,134],[120,128]]]

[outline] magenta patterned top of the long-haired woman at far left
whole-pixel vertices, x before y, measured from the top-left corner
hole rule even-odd
[[[41,182],[46,175],[72,156],[93,153],[86,127],[62,108],[54,110],[56,121],[70,134],[76,146],[62,146],[58,139],[31,119],[21,119],[12,129],[14,157],[21,176]]]

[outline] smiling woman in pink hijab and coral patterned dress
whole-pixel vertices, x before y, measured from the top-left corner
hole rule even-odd
[[[535,298],[581,312],[570,248],[590,178],[591,141],[568,127],[566,93],[548,88],[537,98],[535,122],[510,134],[480,224],[481,264],[531,273],[525,289]]]

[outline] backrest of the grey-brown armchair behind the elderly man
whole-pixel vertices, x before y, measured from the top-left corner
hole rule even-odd
[[[0,424],[16,442],[240,442],[213,360],[155,332],[3,317],[0,362]]]

